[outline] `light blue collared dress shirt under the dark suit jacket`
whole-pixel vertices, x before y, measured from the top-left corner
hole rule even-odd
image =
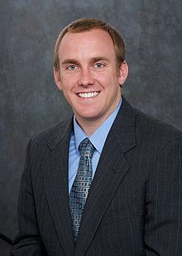
[[[119,104],[113,113],[108,116],[108,119],[103,122],[101,126],[98,127],[97,130],[93,132],[93,134],[89,137],[89,140],[95,147],[95,151],[93,153],[92,158],[92,167],[93,167],[93,176],[95,174],[95,170],[98,165],[98,160],[103,150],[103,145],[107,139],[108,132],[113,126],[113,121],[115,120],[117,113],[122,106],[122,97],[119,101]],[[88,135],[84,133],[84,130],[79,126],[77,123],[75,116],[74,116],[74,131],[71,134],[70,141],[69,141],[69,193],[71,187],[74,183],[74,179],[79,167],[79,144],[82,140],[84,140]]]

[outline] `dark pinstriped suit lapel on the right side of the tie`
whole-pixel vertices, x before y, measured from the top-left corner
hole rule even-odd
[[[123,99],[122,109],[108,134],[89,190],[74,255],[84,255],[89,248],[103,214],[130,168],[124,154],[135,145],[135,113]]]

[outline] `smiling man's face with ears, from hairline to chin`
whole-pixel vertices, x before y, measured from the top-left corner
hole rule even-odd
[[[113,113],[127,78],[127,63],[117,69],[113,40],[108,32],[67,32],[60,42],[60,71],[55,81],[72,106],[79,125],[101,125]]]

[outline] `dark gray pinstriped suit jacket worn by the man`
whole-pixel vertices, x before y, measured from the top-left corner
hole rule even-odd
[[[182,133],[125,99],[103,147],[79,238],[69,214],[72,121],[27,148],[12,255],[182,255]]]

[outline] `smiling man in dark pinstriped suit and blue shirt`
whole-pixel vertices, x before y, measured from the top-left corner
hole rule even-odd
[[[28,145],[12,255],[182,255],[182,134],[122,97],[121,35],[72,22],[54,66],[74,116]]]

